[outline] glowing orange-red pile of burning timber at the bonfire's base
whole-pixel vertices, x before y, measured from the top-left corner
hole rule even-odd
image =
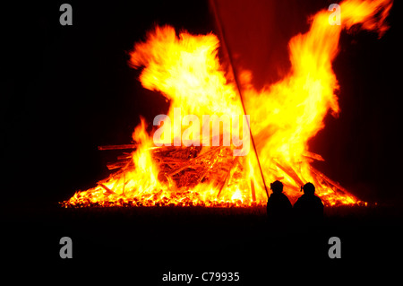
[[[99,150],[117,150],[135,148],[136,144],[126,145],[108,145],[99,146]],[[153,192],[152,195],[146,193],[141,196],[133,196],[125,194],[125,187],[129,183],[130,178],[126,180],[126,173],[130,174],[135,168],[132,160],[132,153],[124,152],[114,163],[107,164],[107,168],[117,171],[109,176],[109,178],[99,181],[98,189],[105,198],[101,201],[91,201],[86,192],[76,193],[74,201],[64,201],[64,207],[82,207],[82,206],[216,206],[216,207],[232,207],[232,206],[253,206],[263,204],[256,201],[254,180],[244,180],[246,160],[244,157],[233,156],[233,150],[226,146],[217,147],[154,147],[150,149],[152,160],[159,168],[158,180],[162,186],[167,187],[169,195],[163,189]],[[311,152],[307,152],[306,157],[322,160],[322,157]],[[304,181],[299,178],[296,171],[285,163],[281,165],[279,162],[274,164],[283,170],[289,178],[293,178],[299,186],[304,185]],[[325,203],[331,202],[334,195],[344,197],[356,203],[353,195],[349,195],[348,191],[327,178],[320,171],[310,167],[316,175],[315,184],[317,186],[327,186],[328,194],[322,194],[322,200]],[[123,178],[123,182],[119,184],[119,180]],[[282,179],[282,178],[279,178]],[[111,188],[105,184],[115,182]],[[116,190],[116,183],[119,189]],[[192,191],[199,184],[210,186],[214,190],[214,194],[210,194],[210,200],[203,197],[201,192]],[[240,186],[239,189],[244,190],[231,195],[231,198],[220,198],[223,189],[228,186]],[[296,186],[285,184],[286,189],[298,191]],[[115,191],[114,191],[115,190]],[[176,191],[172,191],[176,190]],[[298,193],[290,195],[292,201],[296,201]]]

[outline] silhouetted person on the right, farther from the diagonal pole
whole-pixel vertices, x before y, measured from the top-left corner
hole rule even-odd
[[[303,186],[304,195],[301,195],[294,204],[294,213],[300,226],[317,226],[322,223],[323,204],[321,199],[314,195],[315,186],[313,183],[306,183]]]

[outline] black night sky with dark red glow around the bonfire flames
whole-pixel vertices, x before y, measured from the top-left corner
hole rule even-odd
[[[141,88],[126,52],[154,23],[192,33],[215,29],[202,1],[70,1],[72,27],[59,25],[62,3],[2,6],[2,193],[10,200],[60,201],[105,178],[114,156],[97,146],[129,143],[140,114],[150,122],[167,108],[159,94]],[[264,4],[257,14],[248,6],[244,17],[224,22],[229,37],[238,25],[238,42],[230,48],[243,53],[239,65],[262,75],[257,86],[287,71],[287,40],[308,28],[307,14],[330,2],[281,3]],[[229,4],[227,13],[239,13],[237,6]],[[271,8],[267,17],[264,7]],[[312,151],[326,160],[316,167],[368,200],[402,198],[400,8],[394,4],[382,39],[369,32],[342,34],[333,64],[341,113],[326,117],[325,129],[311,141]]]

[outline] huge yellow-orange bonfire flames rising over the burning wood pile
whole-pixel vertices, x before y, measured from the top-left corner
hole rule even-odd
[[[309,31],[289,40],[291,69],[285,78],[256,91],[251,84],[252,74],[241,74],[239,88],[251,115],[256,151],[251,148],[244,156],[234,156],[234,143],[222,144],[228,133],[233,135],[224,123],[219,136],[217,132],[216,136],[207,133],[208,139],[203,132],[199,133],[202,138],[195,133],[186,134],[193,144],[177,146],[175,142],[181,142],[184,126],[190,124],[183,120],[182,125],[169,129],[170,135],[166,132],[159,136],[156,144],[141,118],[133,132],[135,151],[108,166],[117,171],[97,186],[76,192],[62,205],[266,204],[255,152],[266,182],[281,180],[291,202],[300,195],[300,186],[312,182],[325,205],[362,203],[311,166],[313,160],[323,159],[308,151],[308,141],[324,127],[323,118],[328,112],[334,117],[339,115],[335,93],[339,85],[331,63],[339,51],[341,30],[358,24],[381,37],[388,29],[384,21],[391,5],[391,0],[344,1],[340,4],[341,25],[330,25],[330,12],[324,9],[311,18]],[[184,115],[215,116],[210,118],[214,125],[213,121],[222,116],[244,114],[236,83],[220,64],[218,49],[219,39],[212,33],[192,35],[183,31],[176,36],[170,26],[156,27],[144,42],[134,45],[130,65],[142,68],[140,81],[144,88],[159,91],[169,100],[167,117],[174,117],[174,110],[181,108]],[[206,144],[214,140],[221,144]]]

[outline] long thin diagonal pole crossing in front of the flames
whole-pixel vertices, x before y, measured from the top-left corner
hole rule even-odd
[[[242,96],[242,91],[239,88],[238,77],[236,76],[236,70],[235,70],[234,65],[233,65],[233,60],[232,60],[231,53],[229,52],[229,49],[228,49],[227,44],[226,44],[226,39],[224,37],[224,30],[222,29],[221,22],[219,21],[219,12],[217,11],[216,1],[215,0],[210,0],[210,3],[211,3],[211,7],[213,9],[214,17],[215,17],[215,20],[216,20],[216,23],[217,23],[217,26],[218,26],[217,28],[219,29],[219,37],[221,38],[221,41],[222,41],[222,48],[224,50],[224,53],[227,54],[227,56],[228,56],[229,66],[231,68],[232,74],[234,74],[234,80],[236,82],[236,90],[238,91],[239,98],[240,98],[241,103],[242,103],[242,108],[244,108],[244,98]],[[246,108],[244,108],[244,115],[246,115]],[[257,153],[257,150],[256,150],[256,145],[255,145],[254,139],[253,139],[253,134],[252,134],[252,131],[251,131],[251,125],[250,125],[249,120],[247,119],[247,117],[246,117],[246,122],[248,124],[249,134],[251,135],[252,144],[253,144],[253,150],[254,150],[254,153],[256,155],[256,160],[258,162],[258,166],[259,166],[259,169],[261,171],[264,190],[266,191],[266,195],[267,195],[267,197],[269,199],[269,191],[267,190],[266,181],[264,180],[261,161],[259,160],[259,156],[258,156],[258,153]]]

